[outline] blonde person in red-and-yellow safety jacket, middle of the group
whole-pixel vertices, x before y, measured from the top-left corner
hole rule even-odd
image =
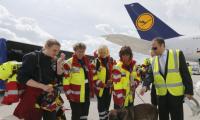
[[[100,120],[107,120],[111,102],[113,60],[106,45],[99,46],[97,58],[93,61],[93,80],[97,96],[97,107]]]

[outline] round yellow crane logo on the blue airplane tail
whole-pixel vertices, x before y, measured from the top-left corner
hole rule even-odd
[[[150,13],[143,13],[136,20],[136,27],[141,31],[147,31],[151,29],[153,24],[154,17]]]

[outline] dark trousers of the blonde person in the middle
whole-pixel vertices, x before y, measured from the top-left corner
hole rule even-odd
[[[110,101],[111,101],[110,88],[105,88],[103,91],[103,95],[101,97],[97,96],[97,101],[98,101],[97,107],[98,107],[98,112],[99,112],[99,119],[107,120],[109,107],[110,107]]]

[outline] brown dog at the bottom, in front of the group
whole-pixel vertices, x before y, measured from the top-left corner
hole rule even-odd
[[[157,120],[158,110],[151,104],[139,104],[119,110],[111,110],[109,120]]]

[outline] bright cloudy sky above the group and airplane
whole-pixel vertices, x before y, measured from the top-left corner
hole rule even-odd
[[[42,45],[56,38],[72,51],[84,42],[91,54],[100,44],[118,56],[119,45],[102,38],[106,34],[138,37],[124,4],[139,2],[183,35],[200,33],[199,0],[0,0],[0,36]],[[136,58],[143,55],[136,53]]]

